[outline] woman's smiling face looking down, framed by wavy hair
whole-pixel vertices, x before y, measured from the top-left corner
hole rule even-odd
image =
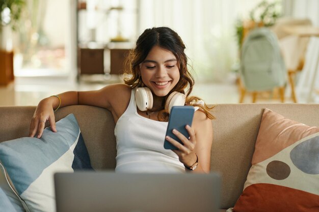
[[[154,46],[140,64],[142,81],[154,95],[165,97],[179,81],[179,67],[175,55]]]

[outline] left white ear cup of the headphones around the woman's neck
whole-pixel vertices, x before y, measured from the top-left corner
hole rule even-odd
[[[153,95],[148,87],[139,87],[135,91],[136,105],[141,111],[152,109]]]

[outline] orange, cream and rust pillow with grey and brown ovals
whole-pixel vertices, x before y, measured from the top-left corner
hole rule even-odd
[[[233,210],[319,211],[319,128],[264,109],[252,167]]]

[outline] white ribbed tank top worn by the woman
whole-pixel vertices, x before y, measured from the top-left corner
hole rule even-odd
[[[178,156],[164,148],[167,122],[143,117],[137,112],[135,89],[129,105],[115,126],[116,172],[185,172]]]

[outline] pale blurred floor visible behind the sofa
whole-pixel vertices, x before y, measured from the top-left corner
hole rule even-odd
[[[99,89],[110,83],[121,82],[118,77],[84,78],[80,82],[59,77],[23,78],[16,77],[7,86],[0,86],[0,106],[37,105],[45,97],[60,94],[68,90]],[[239,92],[235,80],[224,83],[195,83],[192,94],[201,97],[208,104],[238,103]],[[250,103],[252,97],[247,94],[244,103]],[[278,98],[263,94],[258,102],[280,103]],[[291,102],[289,99],[286,102]]]

